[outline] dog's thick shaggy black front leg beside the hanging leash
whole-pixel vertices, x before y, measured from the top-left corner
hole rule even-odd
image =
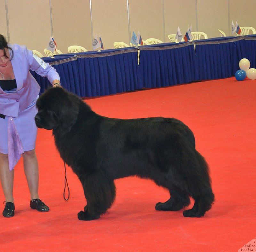
[[[113,180],[108,180],[99,173],[91,174],[80,179],[84,189],[87,205],[84,211],[78,213],[79,220],[94,220],[100,218],[112,205],[116,196],[116,187]]]

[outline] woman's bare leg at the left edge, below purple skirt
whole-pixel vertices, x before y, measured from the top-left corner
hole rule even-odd
[[[14,203],[13,199],[14,170],[9,171],[8,154],[0,153],[0,180],[3,188],[5,201]]]

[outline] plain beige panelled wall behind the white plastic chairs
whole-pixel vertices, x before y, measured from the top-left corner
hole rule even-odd
[[[178,26],[184,36],[190,24],[209,38],[218,29],[231,35],[231,20],[256,28],[255,10],[255,0],[0,0],[0,34],[43,54],[52,34],[67,53],[70,45],[92,50],[95,34],[105,49],[129,44],[132,30],[164,42]]]

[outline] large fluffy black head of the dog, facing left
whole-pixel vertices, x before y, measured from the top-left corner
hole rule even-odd
[[[67,133],[76,122],[79,105],[78,96],[60,87],[49,88],[36,102],[36,126],[47,130],[60,129],[62,133]]]

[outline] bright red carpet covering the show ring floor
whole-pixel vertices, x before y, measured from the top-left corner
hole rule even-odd
[[[209,163],[215,204],[202,218],[159,212],[155,204],[166,201],[168,192],[148,180],[125,178],[116,180],[116,201],[105,215],[79,221],[77,213],[86,204],[82,186],[67,167],[70,199],[64,201],[63,161],[52,132],[39,130],[40,197],[50,211],[30,209],[20,160],[15,216],[0,216],[1,250],[238,251],[256,238],[255,100],[256,81],[235,78],[87,99],[94,111],[108,117],[164,116],[186,123]]]

